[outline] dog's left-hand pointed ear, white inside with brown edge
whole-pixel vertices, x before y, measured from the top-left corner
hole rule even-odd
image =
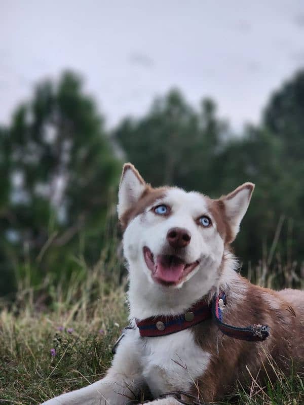
[[[145,187],[146,183],[135,167],[131,163],[126,163],[123,167],[118,191],[117,213],[119,219],[136,203]]]

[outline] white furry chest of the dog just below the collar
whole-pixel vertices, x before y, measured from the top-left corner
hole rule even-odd
[[[188,390],[208,367],[210,353],[195,343],[191,330],[140,341],[143,376],[154,396]]]

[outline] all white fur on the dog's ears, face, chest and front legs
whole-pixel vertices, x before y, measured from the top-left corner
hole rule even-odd
[[[136,203],[144,186],[138,173],[129,165],[119,190],[120,218]],[[240,190],[225,202],[235,230],[247,210],[249,198],[247,191]],[[232,283],[238,298],[245,295],[244,285],[239,289],[237,287],[234,257],[224,253],[224,241],[217,231],[215,219],[208,211],[207,199],[196,192],[186,193],[171,188],[161,200],[154,203],[157,204],[169,206],[170,216],[155,215],[152,207],[147,207],[129,223],[124,234],[124,254],[130,273],[130,318],[182,313],[203,296],[211,298],[216,290],[222,288],[225,291]],[[204,228],[197,224],[197,218],[203,215],[211,218],[211,227]],[[192,263],[199,260],[200,264],[179,285],[164,287],[151,277],[144,260],[143,247],[147,246],[155,257],[162,254],[167,246],[167,232],[176,226],[191,233],[191,241],[185,248],[185,261]],[[219,272],[223,254],[224,266]],[[155,397],[176,389],[187,391],[204,374],[210,358],[211,354],[195,343],[191,329],[154,338],[141,338],[137,328],[131,329],[119,344],[112,367],[103,380],[45,404],[125,405],[145,385]],[[150,403],[178,405],[179,402],[174,398],[165,398]]]

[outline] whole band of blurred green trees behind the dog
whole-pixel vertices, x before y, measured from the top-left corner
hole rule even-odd
[[[270,98],[261,124],[241,134],[218,116],[211,99],[195,109],[175,89],[144,116],[122,120],[110,136],[79,76],[65,72],[58,83],[42,82],[11,125],[0,128],[0,294],[24,279],[39,285],[46,273],[65,282],[73,269],[81,273],[80,260],[98,260],[108,230],[116,233],[116,150],[154,186],[218,197],[254,182],[236,254],[252,269],[280,252],[300,276],[303,89],[301,71]]]

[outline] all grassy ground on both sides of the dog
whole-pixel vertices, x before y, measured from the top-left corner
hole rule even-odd
[[[272,270],[267,260],[251,269],[253,281],[300,287],[294,265],[277,259]],[[35,290],[22,280],[14,304],[1,303],[1,404],[39,404],[104,375],[112,344],[127,323],[126,279],[117,268],[116,259],[106,266],[101,259],[93,269],[84,265],[85,273],[75,274],[64,290],[48,280]],[[277,372],[277,377],[274,385],[253,381],[249,393],[239,387],[223,403],[303,404],[303,376]]]

